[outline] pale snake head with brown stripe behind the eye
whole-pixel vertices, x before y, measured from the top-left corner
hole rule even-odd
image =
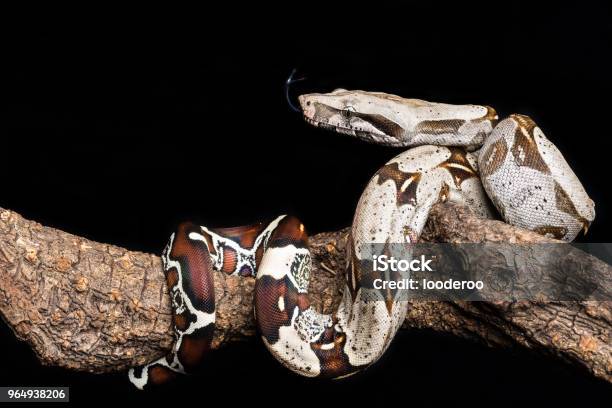
[[[373,143],[400,145],[405,133],[398,121],[401,106],[386,96],[336,89],[301,95],[299,101],[304,119],[311,125]]]

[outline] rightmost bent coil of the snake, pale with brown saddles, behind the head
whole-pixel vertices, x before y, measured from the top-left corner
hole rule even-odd
[[[483,185],[504,220],[573,240],[595,218],[595,206],[563,155],[527,116],[511,115],[479,155]]]

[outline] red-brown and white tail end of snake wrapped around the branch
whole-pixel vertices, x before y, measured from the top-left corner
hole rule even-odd
[[[215,323],[214,293],[212,291],[211,269],[223,271],[230,275],[254,275],[257,258],[266,248],[267,241],[285,216],[279,216],[267,226],[256,224],[253,226],[225,228],[217,231],[207,227],[191,224],[182,224],[179,231],[172,234],[170,242],[162,253],[162,263],[168,280],[172,312],[174,318],[175,343],[172,351],[165,357],[155,360],[144,367],[130,369],[130,381],[139,389],[149,384],[159,384],[167,381],[171,372],[185,374],[197,365],[206,354]],[[220,232],[220,233],[219,233]],[[228,233],[228,236],[223,235]],[[182,262],[189,270],[185,270],[180,259],[172,257],[177,234],[181,234],[180,245],[200,245],[200,253],[206,257],[207,262],[198,259],[192,250],[178,250],[183,257]],[[186,236],[184,236],[187,234]],[[253,239],[251,245],[246,245],[241,239]],[[204,250],[206,248],[206,250]],[[202,256],[201,255],[201,256]],[[208,265],[210,262],[210,265]],[[206,264],[203,264],[206,263]],[[199,299],[194,304],[200,285],[210,286],[206,292],[207,299]],[[201,289],[199,290],[201,291]],[[201,297],[201,295],[200,295]],[[202,310],[202,308],[207,310]],[[183,343],[188,337],[190,344],[183,349]],[[183,359],[188,359],[189,368],[185,367]],[[154,377],[154,378],[151,378]]]

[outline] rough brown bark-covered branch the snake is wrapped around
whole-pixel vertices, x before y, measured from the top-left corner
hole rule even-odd
[[[311,299],[340,300],[347,229],[311,238]],[[464,207],[434,207],[423,239],[554,242]],[[587,259],[593,267],[597,261]],[[610,290],[609,269],[602,287]],[[255,334],[252,278],[215,274],[214,347]],[[43,364],[90,372],[126,370],[172,345],[171,309],[158,256],[92,242],[0,209],[0,313]],[[611,302],[412,302],[405,329],[433,329],[490,346],[546,352],[612,381]]]

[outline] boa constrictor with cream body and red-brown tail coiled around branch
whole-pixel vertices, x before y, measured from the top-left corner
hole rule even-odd
[[[311,258],[296,218],[227,229],[182,224],[162,256],[176,342],[168,356],[130,370],[137,387],[193,370],[210,348],[213,270],[256,276],[257,327],[282,364],[304,376],[339,378],[384,353],[407,309],[405,300],[388,293],[381,301],[371,301],[369,293],[366,301],[360,285],[364,246],[416,242],[431,207],[441,201],[494,217],[487,195],[506,222],[565,241],[586,232],[595,217],[578,178],[527,116],[497,123],[487,106],[343,89],[302,95],[300,105],[314,126],[378,144],[418,146],[378,170],[359,200],[340,305],[331,315],[310,306]]]

